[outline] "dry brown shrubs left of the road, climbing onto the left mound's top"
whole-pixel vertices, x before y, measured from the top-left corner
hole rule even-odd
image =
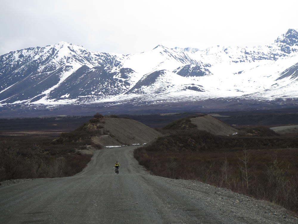
[[[94,115],[100,121],[101,114]],[[93,145],[92,136],[104,134],[103,125],[84,123],[75,131],[53,137],[19,137],[18,142],[0,139],[0,181],[19,178],[65,177],[80,172],[90,161],[90,155],[78,155],[75,148]],[[18,144],[17,144],[18,143]]]

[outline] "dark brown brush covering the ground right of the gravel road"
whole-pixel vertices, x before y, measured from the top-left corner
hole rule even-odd
[[[134,157],[153,174],[199,180],[297,213],[298,151],[284,146],[297,148],[297,138],[179,131],[136,149]]]

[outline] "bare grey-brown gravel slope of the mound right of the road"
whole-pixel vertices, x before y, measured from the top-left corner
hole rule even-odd
[[[207,131],[215,135],[232,135],[239,132],[236,128],[233,128],[210,115],[191,118],[191,122],[197,125],[199,130]]]

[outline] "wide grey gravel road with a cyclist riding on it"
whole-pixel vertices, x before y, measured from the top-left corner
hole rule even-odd
[[[268,202],[150,175],[133,158],[134,148],[96,151],[73,177],[0,187],[0,223],[298,223]]]

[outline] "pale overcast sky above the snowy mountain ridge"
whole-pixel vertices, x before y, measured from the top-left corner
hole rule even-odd
[[[122,54],[266,45],[298,28],[297,2],[0,0],[0,55],[60,41]]]

